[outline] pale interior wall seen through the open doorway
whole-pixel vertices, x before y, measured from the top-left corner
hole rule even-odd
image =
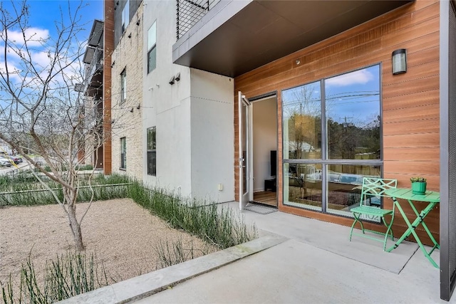
[[[253,107],[254,192],[264,191],[264,179],[271,178],[271,150],[277,150],[276,97],[259,100]]]

